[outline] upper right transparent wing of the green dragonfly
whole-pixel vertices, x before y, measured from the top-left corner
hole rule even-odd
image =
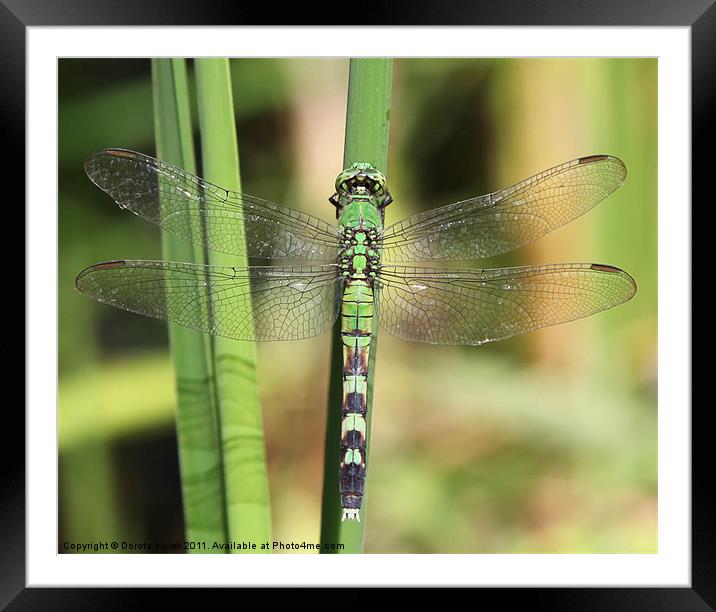
[[[511,251],[584,214],[625,177],[616,157],[575,159],[502,191],[391,225],[383,233],[383,260],[464,261]]]

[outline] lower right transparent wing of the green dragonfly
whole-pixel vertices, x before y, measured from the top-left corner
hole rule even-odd
[[[380,323],[404,340],[484,344],[626,302],[636,284],[601,264],[495,270],[383,266]]]

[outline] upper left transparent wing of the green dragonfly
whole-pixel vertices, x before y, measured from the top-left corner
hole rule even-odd
[[[214,251],[262,259],[336,258],[337,227],[228,191],[153,157],[107,149],[91,155],[85,171],[121,208]]]

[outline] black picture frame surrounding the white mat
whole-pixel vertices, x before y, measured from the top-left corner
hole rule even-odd
[[[15,202],[24,202],[24,183],[8,177],[24,175],[25,165],[25,62],[26,29],[30,26],[62,25],[268,25],[275,19],[261,5],[236,2],[197,3],[163,0],[147,3],[122,0],[0,1],[0,133],[3,150],[11,152],[2,164],[5,185],[15,189],[5,201],[5,212],[19,210]],[[314,5],[311,5],[312,7]],[[315,5],[317,6],[317,5]],[[285,24],[315,25],[317,9],[303,4],[286,4],[280,18]],[[276,13],[276,11],[274,11]],[[340,12],[329,18],[343,17]],[[707,196],[714,160],[711,143],[716,124],[716,6],[712,0],[646,2],[621,0],[595,2],[535,1],[478,3],[462,0],[445,3],[391,2],[389,7],[371,4],[370,10],[346,15],[354,25],[551,25],[551,26],[690,26],[692,52],[692,193]],[[379,18],[382,19],[377,21]],[[271,24],[277,25],[277,24]],[[6,192],[7,193],[7,192]],[[709,193],[709,195],[711,195]],[[713,196],[703,197],[706,206]],[[24,221],[20,221],[24,223]],[[15,289],[17,295],[17,290]],[[17,298],[16,298],[17,299]],[[690,296],[689,296],[689,299]],[[7,303],[6,303],[7,304]],[[6,306],[7,308],[7,306]],[[23,315],[25,325],[32,325]],[[48,346],[48,350],[51,347]],[[28,356],[32,359],[32,355]],[[672,406],[673,409],[687,409]],[[690,407],[689,407],[690,408]],[[164,589],[150,593],[145,589],[26,588],[25,571],[25,466],[24,415],[17,405],[6,404],[6,455],[0,471],[0,606],[9,610],[127,609],[140,602],[151,603],[161,597],[163,607],[173,596],[191,605],[193,595],[186,590]],[[713,610],[716,609],[716,503],[711,489],[711,429],[706,425],[707,404],[692,412],[692,576],[684,588],[539,588],[484,589],[479,595],[499,598],[501,606],[524,603],[530,608],[565,610]],[[17,446],[7,444],[12,440]],[[19,448],[18,448],[19,446]],[[207,602],[204,601],[204,604]],[[476,602],[477,603],[477,602]]]

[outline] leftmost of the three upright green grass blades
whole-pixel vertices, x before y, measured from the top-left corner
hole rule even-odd
[[[196,173],[185,60],[153,59],[152,83],[157,156]],[[169,261],[205,262],[201,248],[165,232],[162,233],[162,256]],[[186,538],[223,542],[227,538],[225,495],[211,342],[204,334],[170,323],[169,346],[176,377]],[[190,552],[212,551],[199,548]]]

